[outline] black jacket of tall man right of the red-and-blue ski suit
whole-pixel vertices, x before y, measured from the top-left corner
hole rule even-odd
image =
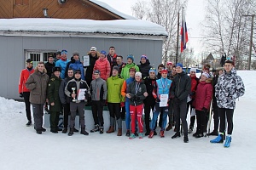
[[[180,101],[187,100],[191,90],[191,78],[182,71],[172,81],[172,96]]]

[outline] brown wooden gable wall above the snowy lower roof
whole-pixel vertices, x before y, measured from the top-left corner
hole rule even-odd
[[[48,8],[50,18],[58,19],[90,19],[118,20],[116,14],[83,0],[67,1],[65,4],[57,0],[0,0],[0,18],[44,18],[43,8]]]

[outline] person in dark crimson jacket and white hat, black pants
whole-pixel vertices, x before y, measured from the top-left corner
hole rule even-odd
[[[212,79],[207,72],[201,74],[201,79],[195,91],[195,113],[197,130],[195,138],[207,135],[207,113],[212,101]]]

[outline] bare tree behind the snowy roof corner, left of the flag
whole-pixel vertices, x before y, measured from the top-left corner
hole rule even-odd
[[[168,37],[163,44],[162,60],[166,63],[176,54],[177,48],[177,14],[186,6],[187,0],[151,0],[150,3],[138,1],[132,6],[133,14],[141,20],[150,20],[166,28]]]

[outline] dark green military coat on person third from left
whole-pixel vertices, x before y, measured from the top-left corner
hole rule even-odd
[[[59,88],[61,85],[61,77],[52,75],[49,79],[47,88],[47,98],[49,99],[49,111],[61,111],[61,99],[59,96]],[[55,105],[50,105],[52,102]]]

